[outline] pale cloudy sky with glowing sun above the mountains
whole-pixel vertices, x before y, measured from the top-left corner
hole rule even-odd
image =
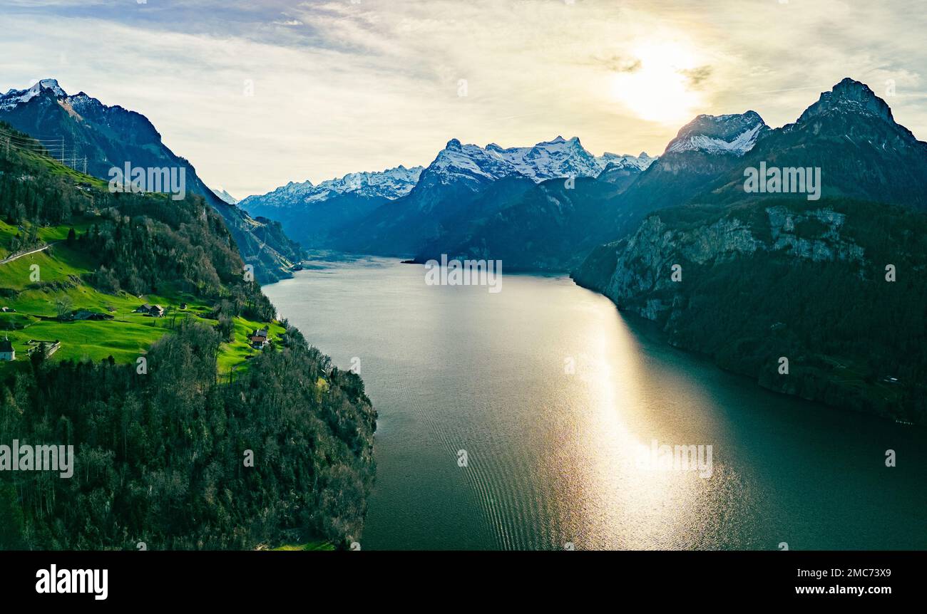
[[[700,113],[794,121],[844,77],[927,140],[922,0],[0,0],[0,90],[136,110],[242,198],[451,138],[657,155]]]

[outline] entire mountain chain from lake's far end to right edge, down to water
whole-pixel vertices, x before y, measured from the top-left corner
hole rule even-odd
[[[453,139],[425,169],[397,170],[380,174],[388,192],[347,176],[243,206],[311,247],[571,270],[770,389],[927,422],[927,144],[859,81],[781,128],[755,111],[700,115],[658,158]]]

